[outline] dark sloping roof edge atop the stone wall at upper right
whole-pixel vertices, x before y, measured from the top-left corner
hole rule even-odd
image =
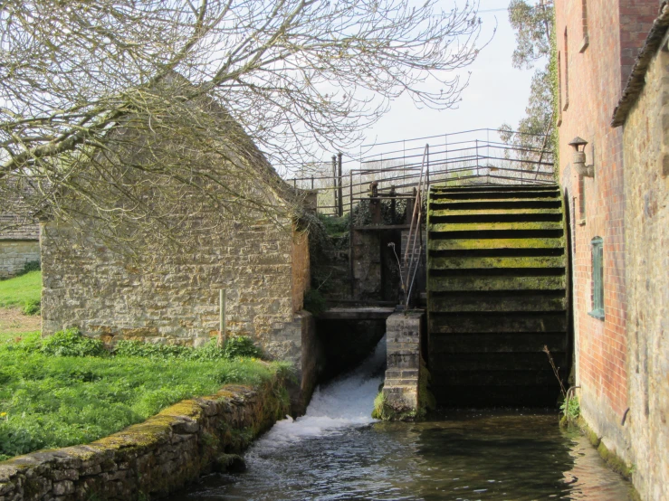
[[[657,50],[660,48],[667,29],[669,29],[669,5],[667,2],[664,2],[660,9],[660,15],[655,19],[653,27],[645,39],[644,46],[641,48],[641,52],[636,56],[632,73],[629,75],[629,79],[627,79],[625,90],[623,90],[623,96],[618,101],[616,109],[613,112],[612,127],[619,127],[625,124],[629,110],[635,105],[636,99],[638,99],[639,94],[644,89],[645,73],[648,71],[650,62],[653,61]]]

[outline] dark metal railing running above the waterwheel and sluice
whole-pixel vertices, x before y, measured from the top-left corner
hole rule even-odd
[[[485,128],[378,143],[361,147],[358,155],[332,156],[331,167],[287,181],[296,188],[316,191],[318,211],[333,215],[343,215],[354,203],[368,199],[372,182],[379,196],[392,191],[397,198],[411,198],[413,189],[421,184],[424,162],[429,184],[554,182],[547,137],[503,134],[520,137],[517,143],[522,146],[504,141],[498,130]],[[422,143],[418,146],[418,142]]]

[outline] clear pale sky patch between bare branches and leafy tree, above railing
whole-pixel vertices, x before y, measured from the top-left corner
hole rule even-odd
[[[454,0],[443,0],[449,10]],[[457,109],[436,111],[416,109],[411,99],[397,99],[386,116],[370,128],[366,143],[395,141],[413,137],[435,136],[473,128],[498,128],[506,122],[515,127],[525,111],[534,71],[511,66],[515,35],[506,8],[510,0],[480,0],[479,17],[483,21],[481,40],[488,40],[497,26],[492,42],[472,65],[469,86],[462,93]],[[456,0],[464,5],[464,0]]]

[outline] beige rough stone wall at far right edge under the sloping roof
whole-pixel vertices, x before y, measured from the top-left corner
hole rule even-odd
[[[669,54],[657,52],[624,128],[629,429],[636,489],[669,499]],[[659,111],[659,112],[658,112]]]

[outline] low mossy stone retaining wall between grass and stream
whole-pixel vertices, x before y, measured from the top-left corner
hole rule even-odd
[[[167,496],[240,452],[281,419],[282,382],[227,385],[89,445],[0,462],[0,501],[130,501]]]

